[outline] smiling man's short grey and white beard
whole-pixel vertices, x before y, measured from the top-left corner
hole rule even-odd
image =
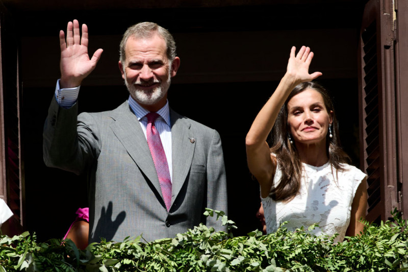
[[[140,84],[140,81],[135,82],[135,84],[129,84],[126,80],[124,81],[127,90],[131,94],[132,98],[139,104],[142,105],[155,105],[158,103],[167,93],[171,77],[169,76],[166,82],[159,82],[155,80],[153,83],[160,83],[160,85],[150,91],[144,91],[137,87],[137,84]]]

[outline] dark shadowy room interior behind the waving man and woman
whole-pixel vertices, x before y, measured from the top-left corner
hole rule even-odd
[[[42,160],[42,127],[59,78],[58,33],[74,18],[88,25],[90,54],[104,48],[81,87],[80,111],[110,110],[126,100],[117,62],[127,27],[154,21],[173,33],[181,68],[169,103],[220,133],[235,235],[259,228],[259,186],[246,166],[245,135],[284,75],[292,45],[315,52],[311,71],[323,73],[318,81],[334,97],[343,147],[359,164],[357,46],[364,1],[84,3],[5,1],[21,51],[25,227],[40,240],[62,237],[77,208],[88,205],[86,177],[47,168]]]

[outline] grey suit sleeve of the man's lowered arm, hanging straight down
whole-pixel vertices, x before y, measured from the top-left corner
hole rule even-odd
[[[224,156],[220,136],[215,130],[207,159],[207,208],[228,212]],[[207,217],[207,226],[226,231],[226,226],[221,226],[221,218],[216,218],[215,214]]]

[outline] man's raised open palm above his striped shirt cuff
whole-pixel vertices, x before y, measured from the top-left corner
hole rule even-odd
[[[82,25],[82,38],[78,20],[68,22],[67,37],[60,31],[61,46],[61,80],[60,88],[72,88],[81,85],[81,82],[96,67],[103,50],[99,48],[92,58],[88,55],[88,27]]]

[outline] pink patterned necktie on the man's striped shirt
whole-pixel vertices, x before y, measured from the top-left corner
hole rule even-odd
[[[146,136],[150,154],[153,158],[153,162],[155,163],[157,176],[160,182],[160,188],[162,189],[164,203],[166,204],[167,211],[169,211],[171,204],[171,179],[169,165],[167,164],[166,159],[166,153],[164,153],[163,144],[160,140],[160,134],[155,126],[155,120],[159,116],[160,115],[156,112],[150,112],[146,114]]]

